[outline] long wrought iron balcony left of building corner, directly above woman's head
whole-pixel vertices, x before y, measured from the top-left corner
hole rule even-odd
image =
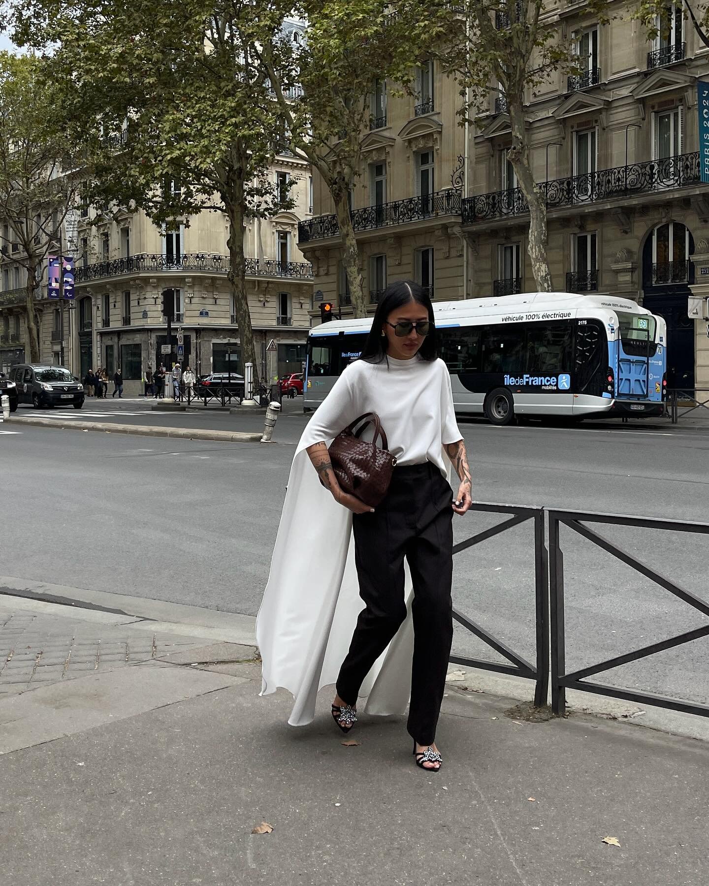
[[[410,221],[422,221],[427,218],[435,218],[438,215],[459,215],[461,200],[461,191],[449,188],[420,197],[381,203],[379,206],[353,209],[350,217],[355,231],[373,230],[386,228],[390,225],[408,224]],[[300,243],[308,243],[308,240],[321,240],[325,237],[337,237],[338,234],[339,225],[336,215],[316,215],[315,218],[300,221],[298,225]]]

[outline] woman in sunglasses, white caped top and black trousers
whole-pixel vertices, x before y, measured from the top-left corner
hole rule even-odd
[[[370,413],[396,458],[376,508],[340,487],[327,447]],[[458,475],[455,499],[444,451]],[[261,695],[290,689],[289,723],[310,722],[318,688],[332,683],[331,714],[344,732],[356,722],[359,697],[370,713],[403,713],[410,692],[417,766],[439,771],[435,734],[453,638],[452,517],[470,506],[471,474],[448,369],[437,359],[431,299],[420,285],[396,281],[379,301],[361,358],[310,419],[292,463],[256,622]],[[299,560],[307,537],[327,545]]]

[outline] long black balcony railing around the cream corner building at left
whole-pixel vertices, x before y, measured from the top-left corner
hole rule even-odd
[[[76,283],[86,283],[100,277],[140,274],[154,271],[208,271],[228,274],[231,261],[227,255],[215,253],[185,253],[183,255],[152,255],[141,253],[122,259],[99,261],[86,268],[76,268]],[[278,276],[308,279],[313,266],[308,261],[278,261],[273,259],[245,259],[247,276]]]

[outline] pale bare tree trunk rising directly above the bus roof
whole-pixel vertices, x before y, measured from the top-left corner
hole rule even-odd
[[[514,167],[519,187],[529,205],[529,234],[527,237],[527,253],[532,262],[532,273],[537,291],[551,291],[551,273],[549,272],[548,234],[547,234],[547,203],[541,188],[534,181],[532,167],[529,164],[529,145],[526,141],[524,110],[517,102],[510,102],[510,123],[512,127],[512,146],[510,162]]]

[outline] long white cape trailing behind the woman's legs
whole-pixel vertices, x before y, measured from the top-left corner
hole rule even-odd
[[[304,434],[292,462],[269,582],[256,618],[261,695],[278,687],[292,693],[291,726],[310,723],[318,690],[337,680],[364,605],[354,567],[352,514],[320,485],[305,451],[312,442]],[[409,703],[411,596],[407,567],[407,618],[360,690],[368,713],[402,714]]]

